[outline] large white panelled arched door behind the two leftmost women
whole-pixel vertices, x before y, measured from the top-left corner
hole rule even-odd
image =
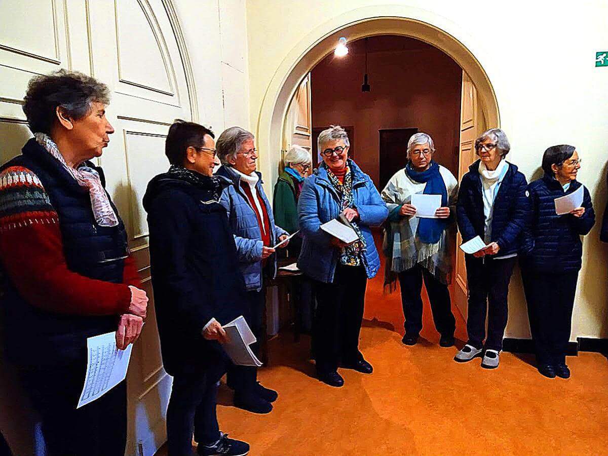
[[[164,155],[168,126],[176,118],[192,119],[182,63],[187,54],[178,47],[171,7],[162,0],[35,3],[32,7],[32,2],[20,0],[0,2],[0,161],[19,154],[32,136],[21,100],[33,75],[66,68],[92,75],[109,86],[108,119],[116,133],[98,163],[125,221],[143,288],[151,298],[127,376],[126,453],[152,455],[166,440],[171,377],[162,367],[141,201],[148,181],[168,168]],[[4,397],[0,399],[5,404]],[[18,399],[9,400],[12,406],[0,407],[0,415],[1,409],[16,409]],[[14,420],[17,415],[11,413]]]

